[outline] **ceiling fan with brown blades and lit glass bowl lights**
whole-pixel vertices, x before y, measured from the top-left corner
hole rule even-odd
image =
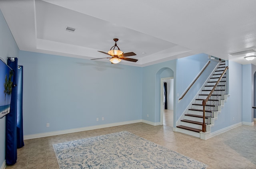
[[[122,52],[119,47],[116,45],[116,42],[118,41],[117,38],[113,39],[115,41],[115,45],[112,46],[110,48],[110,50],[108,51],[108,53],[103,52],[103,51],[98,51],[101,53],[104,53],[106,55],[110,55],[111,57],[103,57],[103,58],[97,58],[97,59],[105,59],[108,58],[110,60],[111,63],[119,63],[122,60],[125,61],[131,61],[131,62],[136,62],[138,61],[138,59],[132,59],[132,58],[128,58],[128,56],[135,56],[136,54],[134,52],[128,52],[128,53],[124,53]],[[115,50],[115,47],[117,47],[118,50]],[[91,59],[91,60],[96,60],[96,59]]]

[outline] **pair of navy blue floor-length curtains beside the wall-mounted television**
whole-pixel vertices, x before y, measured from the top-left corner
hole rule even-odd
[[[12,97],[10,113],[6,115],[6,165],[14,165],[17,161],[17,148],[24,146],[22,122],[22,69],[18,66],[18,58],[7,60],[13,70]],[[19,67],[19,68],[18,68]]]

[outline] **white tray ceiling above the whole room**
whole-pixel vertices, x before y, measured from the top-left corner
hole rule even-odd
[[[140,67],[198,53],[256,65],[228,55],[256,48],[255,7],[256,0],[0,0],[20,50],[95,59],[108,57],[98,51],[118,38],[138,59],[120,64]]]

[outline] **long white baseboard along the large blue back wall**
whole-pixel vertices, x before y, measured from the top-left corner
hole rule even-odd
[[[31,134],[31,135],[26,135],[23,137],[24,140],[28,139],[34,139],[34,138],[42,138],[42,137],[48,137],[48,136],[56,136],[60,134],[68,134],[68,133],[75,133],[75,132],[83,132],[87,130],[95,130],[95,129],[100,129],[100,128],[107,128],[107,127],[113,127],[113,126],[121,126],[125,124],[133,124],[133,123],[139,123],[142,122],[142,120],[132,120],[132,121],[126,121],[126,122],[118,122],[118,123],[110,123],[110,124],[102,124],[98,126],[89,126],[89,127],[84,127],[84,128],[75,128],[75,129],[70,129],[70,130],[61,130],[61,131],[56,131],[56,132],[47,132],[47,133],[40,133],[40,134]],[[152,122],[151,122],[152,123]],[[1,168],[2,169],[2,168]]]

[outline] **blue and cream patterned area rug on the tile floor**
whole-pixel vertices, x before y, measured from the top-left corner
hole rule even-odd
[[[54,144],[60,169],[205,169],[208,165],[127,131]]]

